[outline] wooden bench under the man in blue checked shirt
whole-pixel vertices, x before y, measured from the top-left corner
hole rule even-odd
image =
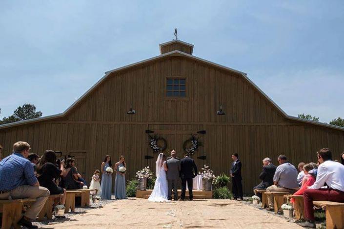
[[[15,229],[20,229],[17,223],[22,217],[23,204],[35,201],[36,199],[0,200],[0,210],[2,211],[1,229],[10,229],[12,225]]]

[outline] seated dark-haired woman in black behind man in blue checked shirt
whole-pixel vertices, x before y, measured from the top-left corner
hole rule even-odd
[[[37,164],[37,176],[40,186],[45,187],[49,190],[51,195],[63,194],[61,204],[64,205],[66,202],[66,190],[57,186],[55,181],[59,179],[60,175],[64,171],[64,161],[61,161],[60,169],[56,167],[56,154],[52,150],[46,150],[40,162]]]

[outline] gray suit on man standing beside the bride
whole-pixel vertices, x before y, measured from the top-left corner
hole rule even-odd
[[[168,182],[168,199],[172,199],[172,189],[174,200],[178,200],[178,180],[179,180],[179,171],[181,171],[181,162],[175,158],[168,159],[166,162],[167,165],[167,182]]]

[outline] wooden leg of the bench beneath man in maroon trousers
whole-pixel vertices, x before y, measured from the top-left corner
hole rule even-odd
[[[343,207],[326,206],[326,229],[344,228]]]

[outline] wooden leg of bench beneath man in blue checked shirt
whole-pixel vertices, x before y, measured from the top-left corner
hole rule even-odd
[[[15,229],[20,229],[17,224],[21,215],[23,203],[4,204],[2,208],[2,229],[10,229],[12,224]]]

